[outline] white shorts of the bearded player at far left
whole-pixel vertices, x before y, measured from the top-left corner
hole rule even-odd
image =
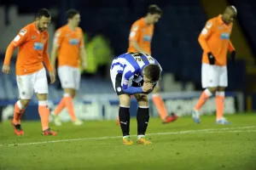
[[[30,75],[16,76],[20,99],[31,99],[33,91],[37,94],[48,94],[48,82],[45,69]]]

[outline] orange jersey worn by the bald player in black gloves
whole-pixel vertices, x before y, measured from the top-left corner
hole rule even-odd
[[[201,31],[198,41],[204,50],[202,62],[209,64],[208,53],[212,53],[215,57],[215,65],[227,65],[228,49],[234,51],[230,42],[230,34],[233,24],[226,25],[221,19],[221,15],[207,21],[206,26]]]

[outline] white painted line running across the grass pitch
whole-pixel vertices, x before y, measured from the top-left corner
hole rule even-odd
[[[247,129],[256,126],[248,127],[224,127],[224,128],[209,128],[200,130],[187,130],[178,132],[168,132],[168,133],[148,133],[147,136],[152,135],[168,135],[168,134],[187,134],[187,133],[243,133],[243,132],[256,132],[256,130],[236,130],[236,129]],[[137,135],[131,135],[137,136]],[[30,143],[20,143],[20,144],[0,144],[1,146],[18,146],[18,145],[31,145],[31,144],[49,144],[49,143],[59,143],[59,142],[71,142],[71,141],[81,141],[81,140],[94,140],[94,139],[117,139],[122,138],[122,136],[105,136],[105,137],[95,137],[95,138],[83,138],[83,139],[61,139],[61,140],[49,140],[43,142],[30,142]]]

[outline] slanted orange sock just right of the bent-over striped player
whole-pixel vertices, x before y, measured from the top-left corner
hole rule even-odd
[[[152,97],[153,97],[154,105],[156,106],[156,109],[160,115],[160,118],[164,120],[168,115],[164,100],[161,98],[160,94],[153,94]]]

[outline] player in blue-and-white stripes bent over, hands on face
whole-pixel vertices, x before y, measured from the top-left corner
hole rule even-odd
[[[156,59],[143,53],[126,53],[113,59],[110,76],[119,97],[119,123],[123,144],[133,144],[130,138],[130,99],[134,94],[138,102],[137,144],[151,144],[145,139],[148,127],[148,94],[160,79],[161,67]]]

